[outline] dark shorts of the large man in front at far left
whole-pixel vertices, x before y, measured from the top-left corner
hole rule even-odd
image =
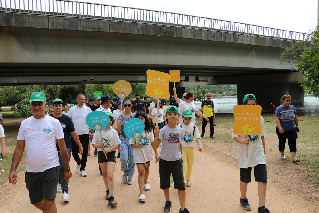
[[[56,199],[59,166],[42,172],[28,172],[25,174],[26,188],[29,191],[31,204],[45,200]]]

